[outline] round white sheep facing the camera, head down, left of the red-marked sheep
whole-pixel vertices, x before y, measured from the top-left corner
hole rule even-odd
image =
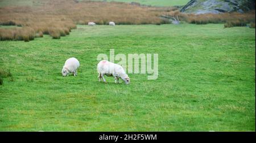
[[[79,60],[77,60],[76,58],[67,59],[62,69],[62,75],[67,76],[70,72],[72,72],[72,74],[76,76],[77,75],[76,71],[77,71],[77,68],[79,68],[79,66],[80,66]]]

